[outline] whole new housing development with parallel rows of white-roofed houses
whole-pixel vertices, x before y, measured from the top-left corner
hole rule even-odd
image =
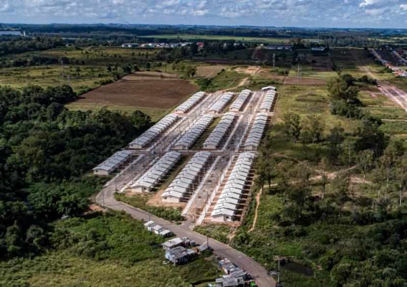
[[[182,215],[196,224],[239,225],[250,203],[256,156],[277,95],[272,86],[197,92],[131,141],[122,151],[126,162],[113,156],[94,173],[129,171],[130,181],[118,192],[154,192],[149,204],[182,207]]]

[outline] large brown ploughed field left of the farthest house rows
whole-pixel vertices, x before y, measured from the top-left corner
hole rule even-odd
[[[196,90],[197,87],[189,81],[178,79],[173,75],[143,72],[128,75],[122,80],[85,93],[76,102],[170,108]]]

